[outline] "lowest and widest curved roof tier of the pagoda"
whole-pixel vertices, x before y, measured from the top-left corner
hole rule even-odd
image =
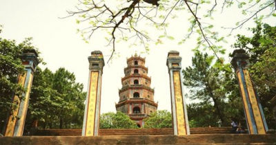
[[[158,104],[153,102],[152,100],[148,100],[146,98],[129,98],[128,100],[123,100],[119,102],[118,104],[115,104],[115,107],[121,107],[124,106],[125,104],[130,104],[130,103],[146,103],[146,104],[151,104],[152,106],[158,107]]]

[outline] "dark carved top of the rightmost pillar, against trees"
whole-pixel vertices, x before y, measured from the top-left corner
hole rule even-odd
[[[235,49],[232,56],[233,58],[231,60],[231,64],[235,70],[237,70],[238,67],[246,69],[249,66],[249,56],[246,54],[244,49]]]

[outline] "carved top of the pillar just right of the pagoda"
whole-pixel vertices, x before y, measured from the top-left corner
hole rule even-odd
[[[170,69],[180,70],[181,69],[181,56],[179,56],[179,52],[172,50],[168,52],[167,58],[167,66],[168,71],[170,73]]]

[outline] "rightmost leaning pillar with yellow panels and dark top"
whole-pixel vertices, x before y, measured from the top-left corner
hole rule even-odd
[[[246,123],[250,134],[266,134],[268,126],[264,118],[262,105],[257,96],[257,92],[253,87],[252,80],[248,71],[249,56],[246,55],[244,49],[236,49],[233,52],[231,64],[235,69],[237,80],[239,82],[239,91],[244,104],[244,113]]]

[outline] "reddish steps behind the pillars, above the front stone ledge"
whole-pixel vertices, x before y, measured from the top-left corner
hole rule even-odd
[[[230,130],[230,127],[197,127],[190,128],[190,134],[229,134]],[[81,136],[81,129],[45,129],[37,131],[35,135]],[[173,135],[173,133],[172,129],[100,129],[99,135]]]

